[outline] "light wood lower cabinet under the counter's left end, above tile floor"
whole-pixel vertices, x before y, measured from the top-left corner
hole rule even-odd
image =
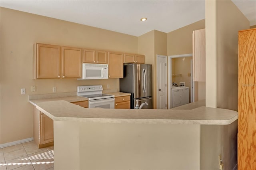
[[[33,107],[33,137],[38,148],[53,145],[53,120]]]

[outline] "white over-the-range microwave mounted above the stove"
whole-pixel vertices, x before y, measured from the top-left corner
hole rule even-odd
[[[88,79],[108,79],[108,64],[82,64],[82,78]]]

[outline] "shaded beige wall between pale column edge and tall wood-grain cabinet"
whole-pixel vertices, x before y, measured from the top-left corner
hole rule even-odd
[[[232,24],[231,24],[232,23]],[[231,1],[217,1],[217,107],[238,110],[238,31],[249,21]]]

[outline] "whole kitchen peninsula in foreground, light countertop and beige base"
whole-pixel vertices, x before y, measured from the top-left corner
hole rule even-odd
[[[236,111],[193,103],[186,110],[85,109],[63,100],[36,108],[54,121],[57,170],[194,170],[215,161],[205,160],[209,148],[224,152],[228,167],[236,152],[230,148],[236,142]],[[214,131],[221,129],[219,140]]]

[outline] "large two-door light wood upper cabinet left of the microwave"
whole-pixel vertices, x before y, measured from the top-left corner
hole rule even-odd
[[[82,49],[35,44],[33,79],[80,77],[82,77]]]

